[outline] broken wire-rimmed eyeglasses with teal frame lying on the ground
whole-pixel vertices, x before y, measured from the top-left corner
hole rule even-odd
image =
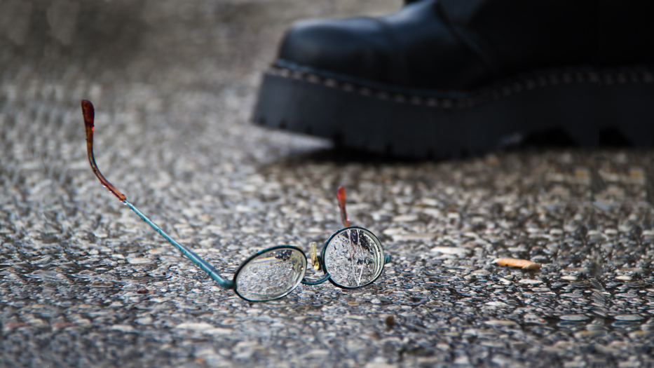
[[[236,294],[245,300],[278,299],[292,292],[300,283],[318,285],[327,280],[337,287],[346,289],[363,287],[377,280],[383,271],[384,264],[390,262],[389,256],[384,257],[379,239],[371,231],[358,226],[350,226],[345,207],[345,189],[341,186],[337,197],[341,209],[341,221],[345,228],[336,231],[329,237],[322,247],[320,256],[317,254],[315,242],[311,244],[311,264],[315,270],[324,272],[323,278],[315,281],[307,280],[305,278],[307,259],[304,252],[299,247],[292,245],[278,245],[253,254],[238,267],[233,280],[228,280],[219,275],[216,268],[200,258],[198,254],[177,243],[135,205],[128,202],[125,195],[104,178],[98,170],[93,156],[95,109],[90,101],[82,100],[82,114],[86,127],[88,162],[102,185],[136,212],[157,233],[175,245],[186,258],[191,259],[196,266],[208,273],[210,278],[226,289],[234,289]]]

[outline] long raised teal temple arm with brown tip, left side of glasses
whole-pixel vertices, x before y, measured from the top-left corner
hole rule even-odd
[[[171,238],[167,233],[165,233],[165,231],[163,231],[163,229],[152,222],[152,220],[149,219],[143,212],[141,212],[135,205],[132,205],[132,203],[130,203],[127,198],[125,198],[123,193],[118,191],[115,186],[111,185],[111,183],[109,183],[109,181],[104,178],[102,172],[100,172],[100,170],[97,168],[97,165],[95,164],[95,156],[93,156],[93,121],[95,119],[95,109],[93,109],[93,104],[90,101],[82,100],[82,114],[84,116],[84,126],[86,128],[86,153],[88,155],[88,162],[91,165],[91,169],[93,169],[93,173],[97,179],[100,180],[102,185],[109,189],[109,191],[111,191],[114,196],[118,197],[121,202],[130,207],[132,211],[138,214],[139,217],[141,217],[144,222],[147,222],[147,224],[150,225],[152,229],[154,229],[157,233],[159,233],[159,235],[163,236],[165,240],[168,240],[170,244],[174,245],[177,250],[179,250],[179,252],[184,254],[186,258],[190,259],[194,264],[196,264],[196,266],[200,267],[202,271],[208,273],[210,278],[218,282],[218,285],[227,289],[234,289],[236,287],[234,282],[227,280],[226,278],[219,275],[216,268],[208,264],[204,259],[200,258],[198,254],[189,248],[184,247],[184,245],[177,243],[175,239]]]

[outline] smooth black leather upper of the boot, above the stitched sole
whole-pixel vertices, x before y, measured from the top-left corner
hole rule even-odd
[[[649,0],[418,0],[379,18],[289,29],[280,67],[421,90],[547,68],[652,64]]]

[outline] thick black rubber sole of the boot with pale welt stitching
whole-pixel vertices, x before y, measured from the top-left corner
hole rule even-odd
[[[617,138],[647,148],[654,143],[654,69],[550,70],[455,95],[273,67],[253,118],[350,149],[411,158],[481,154],[545,131],[581,147]]]

